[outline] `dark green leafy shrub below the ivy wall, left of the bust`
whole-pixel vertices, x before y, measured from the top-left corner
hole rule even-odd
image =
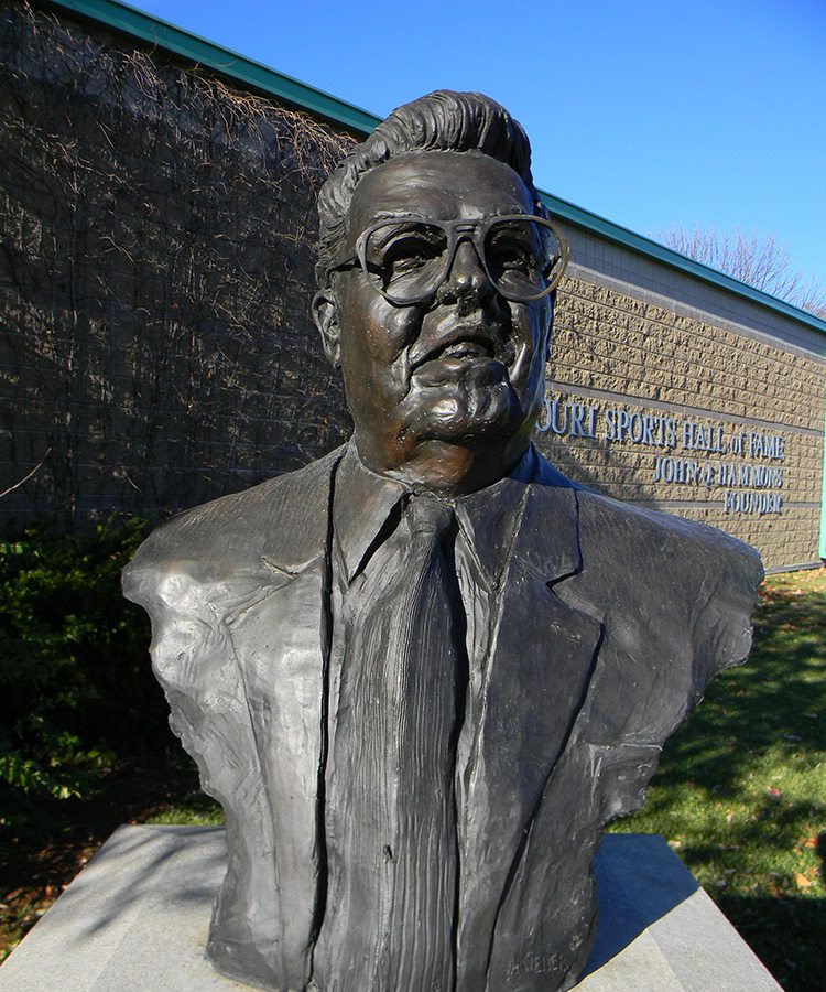
[[[149,622],[120,591],[143,521],[0,542],[0,830],[54,816],[95,772],[171,743]]]

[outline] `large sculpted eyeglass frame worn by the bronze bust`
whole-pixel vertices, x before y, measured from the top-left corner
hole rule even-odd
[[[559,251],[554,252],[554,255],[548,259],[547,266],[545,267],[545,270],[550,272],[558,263],[558,269],[555,272],[553,279],[542,290],[542,292],[535,293],[530,296],[525,296],[522,294],[514,295],[512,293],[503,292],[500,289],[497,280],[494,280],[490,274],[487,252],[485,250],[485,238],[488,236],[488,231],[494,224],[499,224],[500,222],[504,220],[536,222],[541,227],[545,227],[551,231],[551,234],[554,236],[554,239],[556,240],[556,244],[559,246]],[[399,296],[394,296],[392,293],[389,293],[383,287],[377,285],[376,281],[368,271],[366,251],[367,241],[370,235],[374,230],[378,230],[380,227],[384,227],[385,225],[394,224],[396,222],[432,225],[434,227],[442,228],[442,230],[444,230],[447,236],[447,248],[445,250],[445,262],[442,274],[434,281],[433,289],[427,290],[427,292],[421,293],[413,299],[401,299]],[[466,229],[463,230],[463,227]],[[356,255],[352,255],[349,258],[344,259],[343,261],[337,262],[334,266],[330,266],[329,271],[339,272],[349,268],[354,268],[355,266],[359,266],[370,285],[372,285],[376,292],[383,296],[388,301],[388,303],[392,303],[394,306],[414,306],[417,303],[423,303],[428,298],[433,298],[436,295],[439,287],[447,279],[450,269],[456,261],[456,252],[459,250],[459,245],[463,241],[467,240],[469,240],[474,246],[476,256],[481,262],[482,269],[490,284],[493,287],[497,293],[499,293],[500,296],[509,300],[512,303],[535,303],[537,300],[543,300],[545,296],[550,295],[562,281],[562,277],[565,274],[565,269],[568,265],[568,257],[570,255],[570,246],[568,245],[567,240],[559,234],[556,227],[554,227],[554,225],[546,217],[539,217],[535,214],[499,214],[492,217],[480,217],[478,219],[472,217],[459,217],[454,220],[435,220],[433,217],[416,216],[398,218],[385,217],[383,220],[377,220],[374,224],[371,224],[369,227],[365,228],[365,230],[362,230],[356,239]],[[479,250],[480,248],[481,250]]]

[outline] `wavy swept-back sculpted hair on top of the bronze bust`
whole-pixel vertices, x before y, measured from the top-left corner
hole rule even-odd
[[[359,180],[383,162],[417,151],[478,151],[520,176],[539,215],[544,207],[531,175],[531,143],[522,125],[480,93],[439,89],[404,104],[339,163],[318,195],[320,234],[316,281],[329,285],[329,269],[347,237],[347,217]]]

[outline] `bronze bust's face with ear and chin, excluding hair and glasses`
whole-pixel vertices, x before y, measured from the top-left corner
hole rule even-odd
[[[381,220],[533,212],[524,183],[494,159],[410,153],[359,182],[347,252]],[[551,314],[547,296],[504,299],[470,239],[459,239],[435,292],[409,305],[385,299],[359,266],[337,272],[334,296],[316,300],[316,320],[328,354],[340,358],[363,463],[448,495],[507,474],[542,405]]]

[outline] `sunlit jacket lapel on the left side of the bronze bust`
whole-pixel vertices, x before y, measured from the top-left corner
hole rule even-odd
[[[282,932],[273,938],[285,961],[308,960],[318,912],[327,535],[336,461],[325,459],[295,478],[284,477],[260,554],[251,562],[254,601],[239,603],[227,621],[273,824],[275,884],[285,907]]]

